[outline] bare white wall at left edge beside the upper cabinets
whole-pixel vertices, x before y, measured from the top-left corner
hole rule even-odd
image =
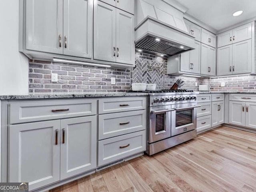
[[[18,51],[19,1],[0,0],[0,95],[28,94],[28,58]]]

